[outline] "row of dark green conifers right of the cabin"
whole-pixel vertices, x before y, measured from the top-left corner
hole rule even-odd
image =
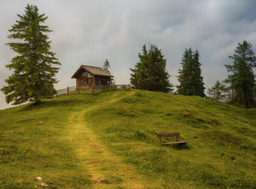
[[[131,74],[131,84],[134,88],[149,91],[171,92],[174,85],[169,82],[169,74],[166,71],[166,59],[156,45],[151,45],[146,51],[146,45],[139,52],[139,60],[135,64]],[[201,63],[199,52],[185,49],[181,59],[182,69],[178,69],[177,93],[185,96],[206,97],[203,76],[201,76]],[[225,101],[241,108],[256,107],[256,84],[253,69],[256,67],[255,52],[252,44],[247,41],[238,42],[238,47],[233,56],[233,64],[224,64],[227,68],[228,78],[224,81],[216,81],[212,88],[208,88],[208,97],[216,101]]]

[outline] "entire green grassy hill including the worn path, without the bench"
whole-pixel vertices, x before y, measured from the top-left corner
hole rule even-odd
[[[255,115],[135,90],[0,110],[0,186],[256,188]],[[174,131],[188,145],[161,147],[156,133]]]

